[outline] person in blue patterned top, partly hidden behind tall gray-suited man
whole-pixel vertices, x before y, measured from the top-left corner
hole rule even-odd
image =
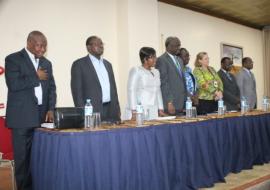
[[[199,103],[199,99],[198,99],[198,94],[197,94],[196,79],[194,75],[192,74],[191,68],[188,66],[188,63],[190,60],[189,52],[186,48],[181,48],[178,51],[177,56],[179,56],[183,60],[187,96],[191,98],[193,105],[196,106]]]

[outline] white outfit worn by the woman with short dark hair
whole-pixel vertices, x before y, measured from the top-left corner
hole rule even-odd
[[[136,109],[138,103],[149,110],[149,119],[156,119],[158,110],[163,110],[159,71],[155,68],[147,70],[143,66],[132,68],[129,72],[127,95],[124,119],[131,119],[132,110]]]

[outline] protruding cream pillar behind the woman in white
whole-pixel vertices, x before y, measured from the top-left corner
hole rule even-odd
[[[139,50],[143,46],[158,49],[158,6],[156,0],[119,0],[118,64],[119,101],[124,114],[127,80],[131,67],[141,65]],[[122,115],[123,115],[122,114]]]

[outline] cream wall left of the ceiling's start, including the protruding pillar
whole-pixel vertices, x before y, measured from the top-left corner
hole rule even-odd
[[[86,38],[98,35],[105,44],[104,57],[113,64],[121,107],[126,104],[126,81],[139,65],[139,49],[158,46],[156,0],[0,0],[0,65],[6,55],[22,49],[32,30],[48,38],[47,58],[53,62],[57,105],[73,106],[70,91],[72,62],[87,54]],[[4,77],[0,78],[0,103],[6,102]],[[0,110],[0,115],[4,115]]]

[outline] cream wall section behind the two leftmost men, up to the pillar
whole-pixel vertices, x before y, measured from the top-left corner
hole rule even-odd
[[[47,58],[53,62],[57,105],[73,106],[70,90],[72,62],[86,56],[85,41],[98,35],[105,44],[104,57],[117,63],[117,0],[9,0],[0,1],[0,65],[5,56],[25,47],[32,30],[48,39]],[[118,81],[118,65],[113,65]],[[0,103],[6,102],[4,76],[0,77]],[[0,115],[4,115],[0,110]]]

